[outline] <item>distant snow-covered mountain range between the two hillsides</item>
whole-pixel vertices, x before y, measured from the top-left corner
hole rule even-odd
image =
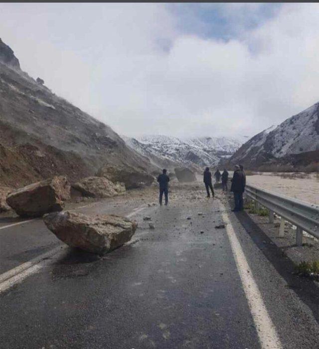
[[[159,166],[189,164],[215,166],[221,158],[230,157],[247,138],[198,137],[180,139],[162,135],[137,138],[123,137],[138,153],[147,156]]]

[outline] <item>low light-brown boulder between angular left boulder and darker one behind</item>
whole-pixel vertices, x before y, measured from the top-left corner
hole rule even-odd
[[[113,183],[105,177],[86,177],[73,184],[83,196],[91,198],[110,198],[125,193],[124,183]]]

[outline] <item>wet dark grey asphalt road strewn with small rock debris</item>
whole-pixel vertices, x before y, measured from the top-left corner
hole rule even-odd
[[[213,199],[79,209],[134,210],[131,243],[103,258],[66,248],[0,294],[1,349],[319,348],[317,285],[247,215]],[[1,273],[63,246],[41,220],[0,230],[0,242]]]

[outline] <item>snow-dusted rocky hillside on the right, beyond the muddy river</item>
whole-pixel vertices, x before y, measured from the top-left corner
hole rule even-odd
[[[229,162],[249,168],[308,166],[318,161],[319,103],[262,131],[243,144]]]

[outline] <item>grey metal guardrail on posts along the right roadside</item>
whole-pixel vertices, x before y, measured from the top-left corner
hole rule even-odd
[[[245,194],[269,210],[271,223],[274,222],[274,212],[281,217],[279,236],[284,234],[286,220],[297,227],[297,246],[302,246],[303,231],[319,239],[319,205],[310,204],[252,185],[246,185]]]

